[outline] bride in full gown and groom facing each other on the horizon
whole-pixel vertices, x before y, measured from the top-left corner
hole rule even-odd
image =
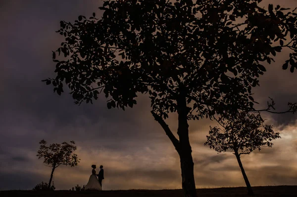
[[[96,165],[92,165],[92,168],[92,174],[86,185],[86,190],[102,190],[102,180],[104,179],[103,165],[100,165],[100,170],[98,174],[96,174],[95,170]]]

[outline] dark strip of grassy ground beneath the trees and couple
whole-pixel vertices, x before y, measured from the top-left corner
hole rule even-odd
[[[256,197],[297,197],[297,186],[253,187]],[[247,189],[198,189],[198,197],[247,197]],[[182,190],[117,190],[117,191],[0,191],[0,197],[183,197]]]

